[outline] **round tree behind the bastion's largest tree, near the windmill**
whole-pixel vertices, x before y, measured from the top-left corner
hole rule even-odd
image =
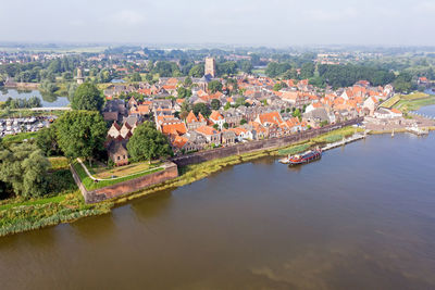
[[[103,103],[104,100],[97,86],[85,83],[75,90],[71,106],[74,110],[100,111]]]

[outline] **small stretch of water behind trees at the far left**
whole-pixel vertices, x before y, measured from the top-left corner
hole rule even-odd
[[[0,90],[0,101],[4,102],[9,97],[12,99],[29,99],[32,97],[38,97],[41,100],[42,106],[66,106],[70,101],[66,97],[58,97],[54,94],[41,94],[39,90],[16,90],[2,88]]]

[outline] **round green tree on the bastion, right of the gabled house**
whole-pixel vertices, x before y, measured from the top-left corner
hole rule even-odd
[[[150,122],[146,122],[135,129],[135,134],[127,143],[127,150],[134,161],[148,160],[151,162],[153,159],[172,154],[169,140]]]

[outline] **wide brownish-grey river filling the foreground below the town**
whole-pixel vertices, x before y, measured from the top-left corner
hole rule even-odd
[[[435,135],[227,167],[0,239],[1,289],[435,289]]]

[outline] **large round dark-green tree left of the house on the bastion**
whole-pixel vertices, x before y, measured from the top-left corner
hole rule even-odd
[[[91,161],[103,149],[108,129],[99,112],[70,111],[54,126],[59,148],[70,159]]]

